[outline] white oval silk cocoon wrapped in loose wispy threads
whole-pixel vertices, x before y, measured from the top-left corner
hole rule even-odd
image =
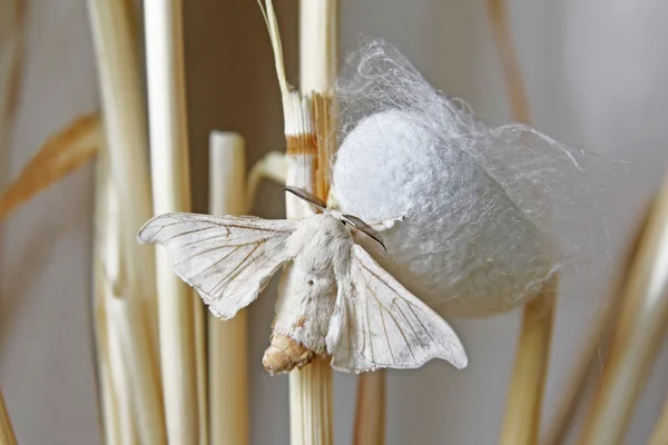
[[[440,314],[525,303],[603,231],[591,156],[525,126],[482,123],[390,44],[364,41],[336,88],[332,197],[367,222],[407,217],[383,234],[387,254],[358,240]]]

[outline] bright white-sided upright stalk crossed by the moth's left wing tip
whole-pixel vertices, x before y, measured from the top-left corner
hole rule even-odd
[[[181,0],[144,2],[154,212],[190,210]],[[169,442],[199,441],[195,312],[203,304],[156,254],[165,421]],[[204,326],[197,326],[202,335]],[[207,429],[206,427],[204,428]]]

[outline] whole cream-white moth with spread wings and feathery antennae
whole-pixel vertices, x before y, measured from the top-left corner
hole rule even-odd
[[[346,224],[382,244],[374,228],[302,189],[286,190],[322,212],[299,221],[173,212],[149,220],[138,240],[165,246],[176,274],[223,319],[253,303],[284,267],[263,358],[272,373],[302,367],[316,355],[355,373],[416,368],[432,358],[466,366],[448,323],[356,245]]]

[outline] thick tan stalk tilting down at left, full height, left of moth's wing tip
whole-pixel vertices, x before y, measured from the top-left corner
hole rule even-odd
[[[140,87],[134,3],[89,0],[98,65],[101,109],[111,188],[118,199],[117,269],[107,268],[106,299],[109,352],[117,400],[132,425],[121,424],[146,444],[166,443],[157,322],[154,250],[140,247],[136,234],[151,216],[146,113]],[[119,362],[120,364],[118,364]],[[114,378],[112,378],[114,379]],[[126,382],[127,380],[127,382]],[[118,386],[120,385],[120,386]],[[122,390],[118,390],[122,388]],[[125,398],[122,398],[125,397]],[[131,413],[128,408],[131,406]],[[122,409],[119,409],[121,413]],[[130,442],[134,443],[134,442]]]

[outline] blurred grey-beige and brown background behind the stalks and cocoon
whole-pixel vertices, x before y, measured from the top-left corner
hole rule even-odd
[[[12,0],[0,0],[2,16]],[[186,58],[195,209],[207,201],[208,132],[236,130],[249,164],[283,147],[279,95],[257,6],[188,1]],[[289,80],[296,78],[296,0],[277,1]],[[668,166],[668,2],[509,1],[513,39],[536,127],[561,141],[630,161],[629,180],[608,177],[611,244],[618,259]],[[53,131],[97,108],[84,0],[27,1],[24,72],[0,184]],[[341,48],[364,34],[396,44],[439,88],[481,115],[509,118],[483,0],[341,0]],[[0,81],[8,76],[0,28]],[[282,195],[263,185],[257,215],[281,217]],[[10,217],[0,234],[0,386],[22,445],[100,443],[90,310],[92,169],[86,168]],[[602,229],[602,228],[601,228]],[[593,254],[599,254],[593,253]],[[601,278],[600,280],[603,280]],[[599,283],[605,285],[605,283]],[[600,286],[599,286],[600,287]],[[250,307],[252,439],[288,441],[287,378],[261,365],[275,294]],[[559,303],[544,419],[554,414],[568,369],[602,294],[568,284]],[[389,377],[387,444],[493,444],[499,435],[518,334],[518,313],[458,320],[471,365],[432,363]],[[350,443],[356,378],[335,375],[335,439]],[[632,422],[642,444],[668,394],[664,344]]]

